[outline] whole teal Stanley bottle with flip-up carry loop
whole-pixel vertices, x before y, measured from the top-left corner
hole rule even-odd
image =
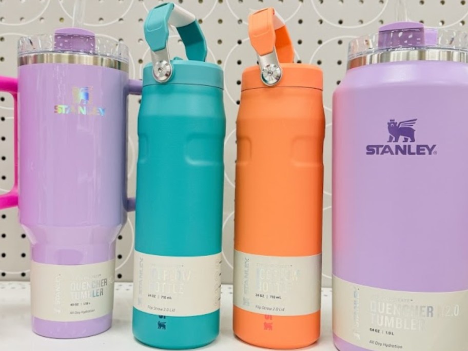
[[[168,25],[188,60],[170,59]],[[133,334],[154,347],[195,348],[219,334],[223,71],[205,62],[201,28],[181,7],[153,8],[144,28],[152,64],[138,121]]]

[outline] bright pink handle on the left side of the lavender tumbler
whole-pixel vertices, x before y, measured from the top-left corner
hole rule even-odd
[[[10,93],[14,100],[14,183],[9,192],[0,195],[0,209],[5,209],[18,205],[18,80],[12,77],[0,76],[0,91]]]

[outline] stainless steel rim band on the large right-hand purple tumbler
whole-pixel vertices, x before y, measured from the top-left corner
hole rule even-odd
[[[424,49],[375,52],[349,60],[347,69],[365,65],[403,61],[452,61],[468,63],[468,51]]]

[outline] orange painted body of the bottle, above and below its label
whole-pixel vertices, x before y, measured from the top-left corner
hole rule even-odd
[[[242,91],[237,120],[236,250],[266,256],[321,253],[324,133],[321,90]],[[320,311],[272,316],[273,330],[264,329],[265,315],[238,307],[233,314],[235,334],[261,347],[305,347],[320,335]]]

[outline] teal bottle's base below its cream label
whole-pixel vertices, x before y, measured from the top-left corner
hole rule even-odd
[[[219,310],[202,316],[168,317],[133,308],[133,336],[151,347],[172,350],[203,347],[216,340],[219,325]]]

